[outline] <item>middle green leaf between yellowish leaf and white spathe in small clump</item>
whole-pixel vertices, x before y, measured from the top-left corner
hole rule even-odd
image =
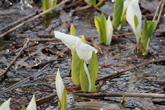
[[[106,44],[107,21],[103,12],[101,13],[101,31],[102,31],[103,43]]]

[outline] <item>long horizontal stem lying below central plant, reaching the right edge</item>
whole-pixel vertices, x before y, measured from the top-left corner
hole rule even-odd
[[[79,96],[85,97],[122,97],[123,93],[111,92],[111,93],[73,93]],[[143,98],[165,98],[165,94],[154,93],[124,93],[125,97],[143,97]]]

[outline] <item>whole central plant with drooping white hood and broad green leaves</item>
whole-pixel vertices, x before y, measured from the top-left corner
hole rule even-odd
[[[82,91],[94,91],[94,85],[98,74],[97,50],[85,43],[85,38],[78,38],[55,31],[55,37],[72,51],[72,80],[73,84],[81,85]],[[87,62],[90,60],[89,68]]]

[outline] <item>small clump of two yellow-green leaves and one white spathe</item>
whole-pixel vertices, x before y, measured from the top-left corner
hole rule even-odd
[[[101,19],[99,17],[95,17],[95,26],[99,32],[99,41],[102,44],[110,45],[112,34],[113,34],[113,26],[110,20],[110,16],[107,21],[104,14],[101,14]]]

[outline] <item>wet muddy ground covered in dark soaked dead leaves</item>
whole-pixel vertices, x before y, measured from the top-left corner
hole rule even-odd
[[[147,2],[148,3],[148,2]],[[155,7],[159,2],[155,2]],[[36,4],[41,9],[41,3]],[[113,37],[110,47],[100,45],[98,32],[94,26],[94,16],[100,16],[96,10],[85,12],[74,12],[76,9],[65,9],[63,7],[56,9],[56,17],[44,21],[43,16],[27,23],[16,29],[7,36],[0,39],[0,73],[2,74],[7,66],[16,57],[18,52],[27,42],[28,46],[22,51],[22,54],[9,68],[8,72],[0,77],[0,103],[11,100],[12,110],[18,110],[21,105],[27,104],[32,95],[35,94],[36,100],[56,93],[55,77],[57,69],[60,68],[61,76],[66,87],[72,87],[70,66],[71,53],[63,43],[54,38],[53,32],[62,31],[69,33],[69,26],[73,24],[76,27],[78,37],[84,35],[87,43],[94,46],[91,38],[97,45],[99,73],[98,78],[114,74],[118,71],[130,68],[145,61],[165,58],[165,34],[154,33],[149,55],[143,56],[135,53],[135,36]],[[106,2],[101,10],[113,15],[113,3]],[[145,6],[141,5],[142,10]],[[26,8],[21,10],[18,3],[13,3],[11,7],[0,9],[0,27],[4,28],[8,24],[32,14],[37,8]],[[150,14],[154,15],[151,11]],[[146,12],[143,18],[148,17]],[[149,17],[148,17],[149,18]],[[164,30],[164,16],[161,16],[157,31]],[[22,21],[20,21],[22,22]],[[14,25],[15,26],[15,25]],[[11,26],[11,27],[14,27]],[[9,30],[8,27],[1,30],[1,34]],[[131,33],[131,27],[126,24],[123,31],[114,31],[116,34]],[[45,39],[45,41],[43,41]],[[48,39],[51,39],[48,41]],[[103,66],[104,64],[104,66]],[[110,67],[105,65],[111,64]],[[159,93],[165,94],[165,67],[164,62],[151,63],[139,68],[125,72],[117,78],[108,79],[100,89],[100,93],[110,92],[129,92],[129,93]],[[43,71],[42,68],[48,65]],[[41,71],[41,73],[38,73]],[[33,77],[29,76],[36,74]],[[27,80],[25,80],[28,78]],[[25,80],[25,81],[22,81]],[[19,82],[23,82],[19,84]],[[13,86],[15,84],[15,86]],[[12,88],[10,88],[12,87]],[[160,98],[129,98],[126,97],[126,107],[120,105],[122,98],[104,97],[87,98],[73,95],[68,91],[67,107],[69,110],[95,110],[95,109],[115,109],[115,110],[163,110],[165,109],[165,100]],[[49,100],[38,103],[38,110],[56,110],[57,97],[53,96]]]

